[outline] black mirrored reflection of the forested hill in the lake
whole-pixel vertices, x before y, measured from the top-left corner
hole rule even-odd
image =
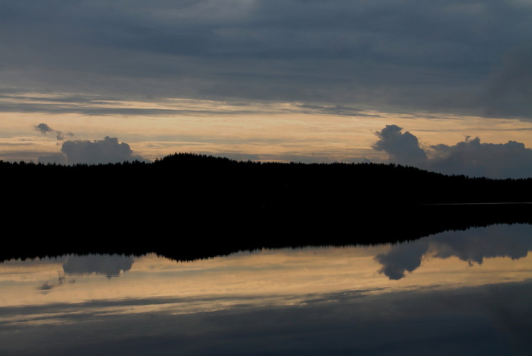
[[[502,223],[532,224],[532,205],[432,205],[366,214],[264,214],[255,218],[246,214],[228,218],[227,214],[198,213],[196,217],[174,216],[168,221],[165,219],[169,214],[163,216],[153,220],[137,214],[101,221],[59,218],[53,222],[28,217],[25,226],[4,235],[0,261],[65,254],[138,256],[152,252],[177,261],[192,261],[261,248],[397,243],[448,230]]]

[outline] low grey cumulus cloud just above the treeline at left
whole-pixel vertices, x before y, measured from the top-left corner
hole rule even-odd
[[[147,161],[142,156],[133,154],[129,144],[118,142],[118,138],[106,136],[103,140],[67,140],[63,142],[62,153],[54,153],[39,157],[42,163],[61,163],[75,165],[86,163],[96,165],[99,163],[117,163],[125,161]]]

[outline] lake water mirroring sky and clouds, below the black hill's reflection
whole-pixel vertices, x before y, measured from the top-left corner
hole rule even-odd
[[[531,355],[532,225],[0,264],[0,354]]]

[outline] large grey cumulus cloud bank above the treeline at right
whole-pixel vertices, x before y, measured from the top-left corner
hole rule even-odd
[[[388,153],[390,162],[443,174],[489,178],[532,177],[532,150],[522,142],[481,143],[478,137],[466,137],[452,146],[435,144],[422,148],[415,135],[408,131],[403,133],[402,130],[396,125],[387,125],[376,133],[379,139],[373,148]]]

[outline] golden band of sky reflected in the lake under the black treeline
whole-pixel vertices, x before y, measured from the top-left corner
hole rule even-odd
[[[398,245],[262,250],[189,263],[154,254],[12,261],[1,265],[0,285],[6,288],[0,303],[16,306],[154,297],[286,300],[345,290],[455,288],[522,281],[532,277],[531,256],[527,255],[532,250],[530,226],[513,225],[510,229],[513,234],[499,225]],[[482,238],[489,243],[479,243]],[[405,275],[406,271],[410,273]],[[107,281],[104,276],[120,277]]]

